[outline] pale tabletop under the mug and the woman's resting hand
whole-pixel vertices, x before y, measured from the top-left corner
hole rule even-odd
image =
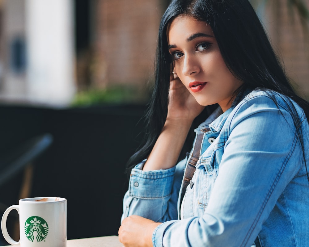
[[[13,245],[6,245],[2,247],[12,247],[12,246]],[[66,246],[67,247],[123,247],[123,245],[118,240],[118,236],[71,239],[67,241]]]

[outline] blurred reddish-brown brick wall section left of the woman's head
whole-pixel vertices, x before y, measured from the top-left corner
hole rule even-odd
[[[153,73],[160,0],[98,0],[93,82],[145,86]]]

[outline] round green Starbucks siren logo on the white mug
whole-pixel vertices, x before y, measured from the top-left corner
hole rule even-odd
[[[26,237],[33,242],[44,240],[48,233],[48,225],[44,219],[39,216],[32,216],[26,220],[25,223],[25,233]]]

